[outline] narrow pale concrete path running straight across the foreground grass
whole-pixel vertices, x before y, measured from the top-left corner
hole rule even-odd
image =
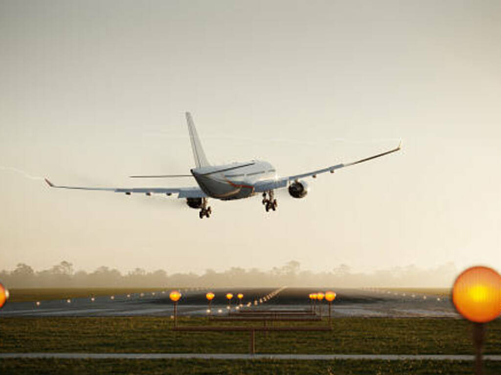
[[[233,353],[0,353],[0,358],[60,359],[278,359],[278,360],[469,360],[467,354],[233,354]],[[501,355],[484,355],[484,360],[501,361]]]

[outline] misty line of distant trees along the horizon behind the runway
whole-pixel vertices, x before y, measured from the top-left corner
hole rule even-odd
[[[75,271],[73,264],[62,261],[49,269],[35,271],[19,263],[13,270],[2,270],[0,282],[9,288],[29,287],[169,287],[169,286],[325,286],[338,287],[449,287],[457,275],[453,263],[420,269],[414,265],[356,273],[346,264],[327,272],[301,270],[300,263],[291,260],[282,267],[268,271],[257,268],[231,267],[223,272],[207,269],[203,274],[173,273],[163,269],[147,272],[135,268],[127,273],[101,266],[93,272]]]

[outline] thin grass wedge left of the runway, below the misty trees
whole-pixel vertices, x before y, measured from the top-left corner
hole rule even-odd
[[[34,302],[50,299],[85,298],[98,295],[120,295],[159,291],[164,288],[14,288],[9,289],[9,302]]]

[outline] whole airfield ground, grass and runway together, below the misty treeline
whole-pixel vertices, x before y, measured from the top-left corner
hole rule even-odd
[[[220,316],[227,313],[223,299],[226,291],[233,294],[242,291],[242,302],[251,301],[255,310],[308,309],[307,295],[317,289],[287,288],[258,305],[254,305],[254,300],[259,301],[273,291],[272,288],[215,290],[212,312]],[[206,290],[182,291],[180,326],[235,324],[207,318]],[[257,332],[257,353],[472,353],[471,324],[456,315],[447,291],[336,291],[331,331]],[[248,332],[171,330],[172,303],[167,289],[123,294],[94,291],[94,301],[90,300],[91,293],[81,298],[74,298],[80,294],[72,290],[51,293],[59,299],[43,300],[35,295],[31,301],[23,298],[24,301],[15,302],[17,293],[12,291],[13,299],[0,311],[0,352],[248,353]],[[36,300],[41,300],[40,305],[36,305]],[[326,314],[324,304],[323,315]],[[252,321],[237,324],[261,325]],[[324,318],[321,322],[276,321],[273,324],[318,326],[328,322]],[[500,319],[488,325],[484,353],[501,354]],[[471,373],[471,368],[471,361],[461,360],[0,359],[0,373],[54,373],[56,369],[61,373]],[[485,373],[501,373],[501,361],[485,361],[485,369]]]

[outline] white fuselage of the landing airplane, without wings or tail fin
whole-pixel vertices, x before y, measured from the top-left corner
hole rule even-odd
[[[277,177],[267,161],[252,160],[191,169],[191,174],[205,194],[221,200],[247,198],[255,194],[255,184]]]

